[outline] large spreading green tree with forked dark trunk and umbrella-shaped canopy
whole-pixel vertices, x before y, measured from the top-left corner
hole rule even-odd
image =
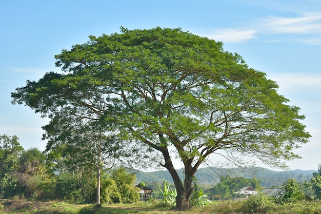
[[[140,145],[133,153],[161,154],[177,189],[177,209],[189,207],[193,176],[211,154],[285,167],[281,160],[299,158],[292,150],[310,137],[299,108],[287,104],[265,73],[222,43],[181,29],[122,28],[90,36],[55,58],[65,73],[28,81],[11,94],[13,103],[52,120],[68,111],[102,127],[112,124],[118,136]],[[184,166],[184,180],[174,158]]]

